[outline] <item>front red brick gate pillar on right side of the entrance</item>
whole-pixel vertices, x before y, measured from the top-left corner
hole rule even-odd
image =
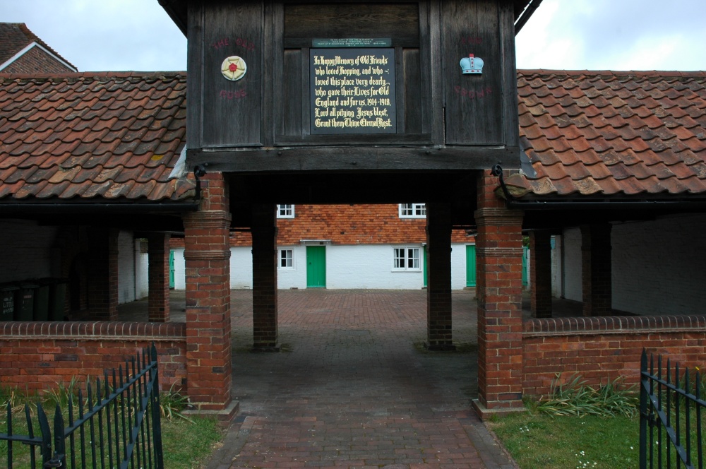
[[[478,300],[478,399],[482,418],[522,410],[522,211],[493,193],[498,178],[478,177],[474,213]]]

